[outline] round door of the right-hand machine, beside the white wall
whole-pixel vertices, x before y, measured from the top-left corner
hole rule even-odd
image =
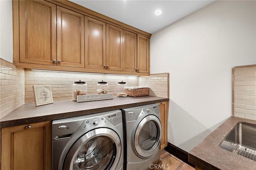
[[[155,115],[148,115],[140,121],[134,134],[134,147],[143,158],[148,158],[159,149],[161,144],[161,123]]]

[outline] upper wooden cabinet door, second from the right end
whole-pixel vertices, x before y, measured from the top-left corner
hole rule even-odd
[[[137,34],[124,30],[123,33],[123,71],[136,72],[137,68]]]

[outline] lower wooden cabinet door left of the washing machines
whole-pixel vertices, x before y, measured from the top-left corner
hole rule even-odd
[[[50,170],[51,121],[1,129],[2,170]]]

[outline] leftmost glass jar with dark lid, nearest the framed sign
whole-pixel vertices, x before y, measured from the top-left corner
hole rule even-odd
[[[77,101],[76,96],[87,94],[87,84],[85,83],[85,81],[75,81],[72,85],[72,91],[73,101]]]

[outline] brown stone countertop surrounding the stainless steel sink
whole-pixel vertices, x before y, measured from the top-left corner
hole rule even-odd
[[[256,170],[256,161],[219,147],[220,142],[238,122],[256,124],[256,121],[250,119],[228,118],[188,153],[188,161],[203,170]]]

